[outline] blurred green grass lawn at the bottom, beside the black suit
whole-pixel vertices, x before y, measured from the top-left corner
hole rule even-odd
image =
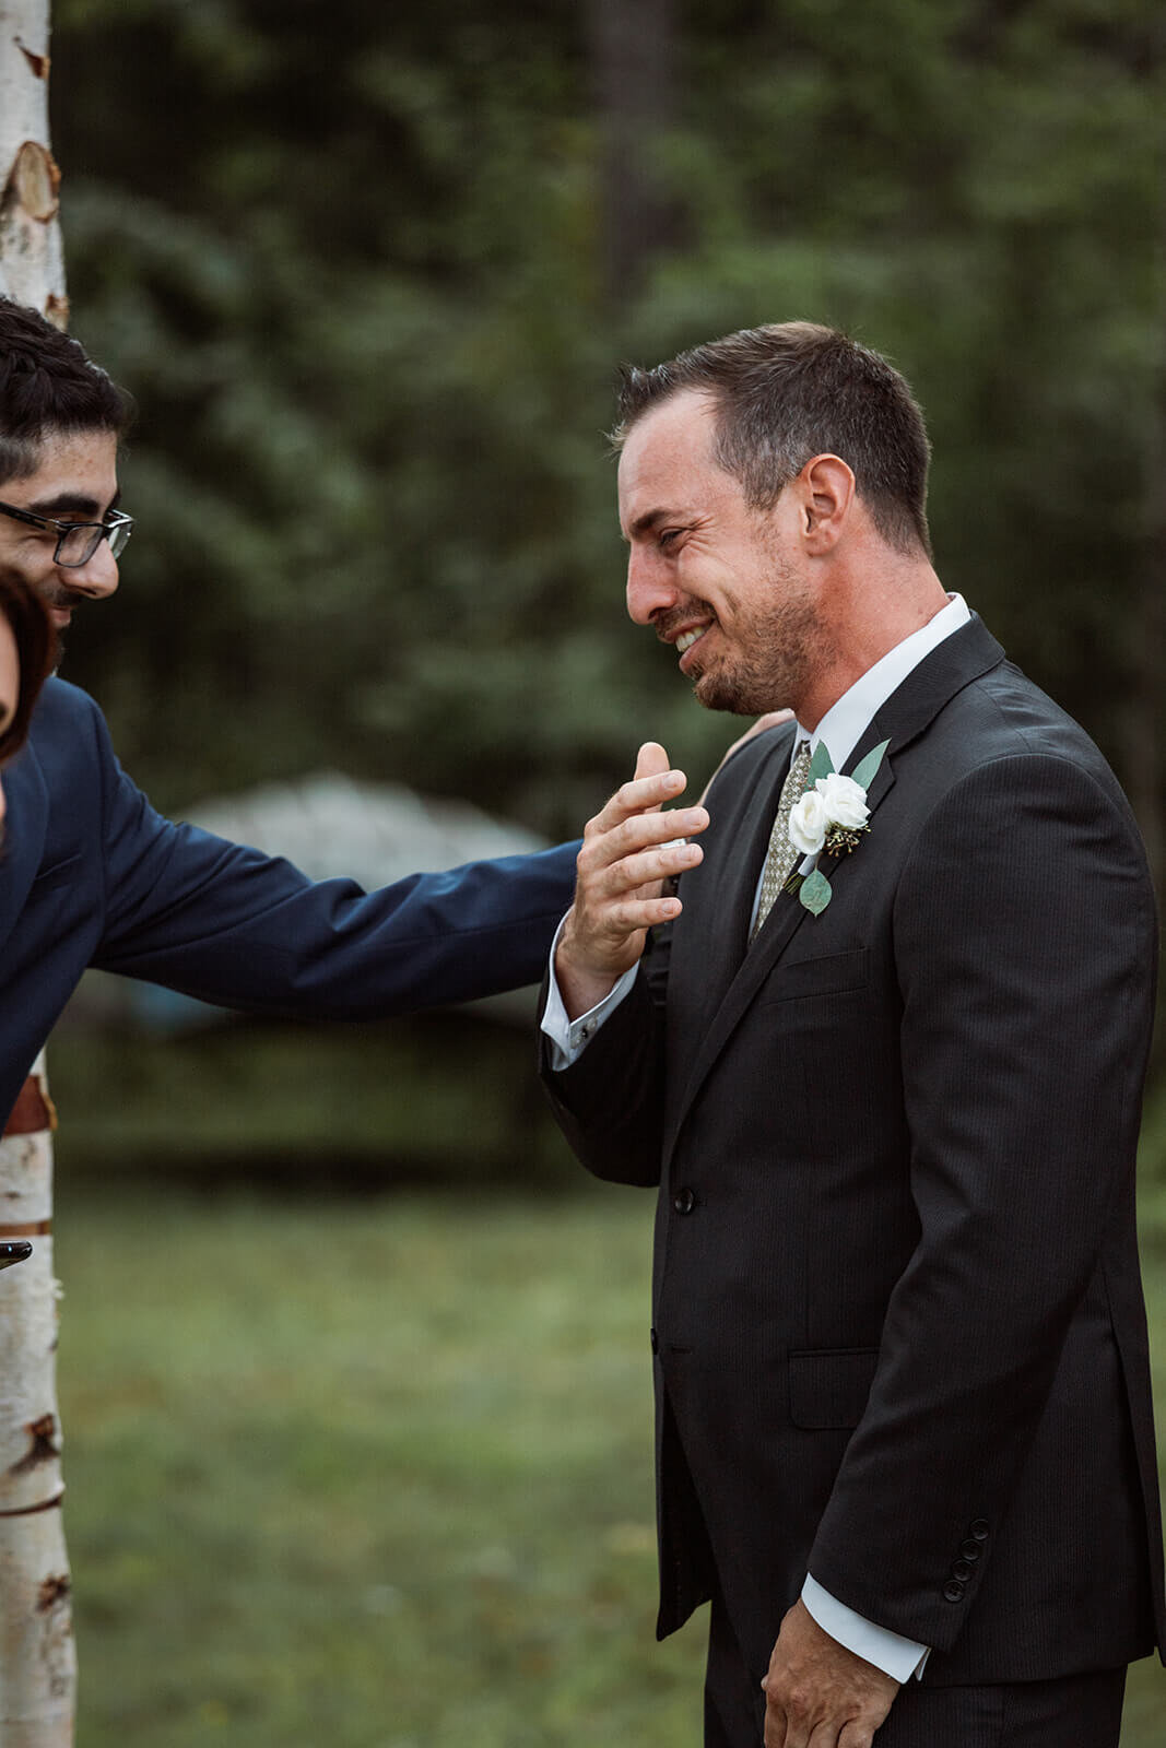
[[[649,1227],[631,1190],[66,1189],[79,1748],[698,1748],[703,1622],[652,1636]],[[1128,1748],[1164,1710],[1140,1666]]]

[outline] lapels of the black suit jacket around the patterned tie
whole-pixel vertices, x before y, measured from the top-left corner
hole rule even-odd
[[[883,764],[867,790],[871,818],[874,818],[879,806],[893,788],[895,757],[927,731],[932,720],[939,715],[944,704],[954,697],[956,692],[960,692],[965,685],[970,685],[970,682],[977,680],[982,673],[988,673],[989,668],[998,666],[1000,661],[1003,661],[1002,647],[984,628],[982,621],[974,614],[970,624],[954,631],[937,649],[933,649],[932,654],[907,675],[899,690],[895,690],[876,711],[874,720],[860,738],[844,766],[846,773],[853,771],[860,760],[879,745],[879,741],[890,741],[886,757],[883,759]],[[748,844],[748,853],[724,857],[725,864],[732,864],[732,874],[725,874],[722,869],[722,879],[718,881],[717,890],[718,907],[713,911],[713,916],[722,918],[724,925],[715,926],[711,935],[713,939],[720,937],[715,949],[715,961],[720,967],[729,967],[729,974],[725,981],[718,979],[711,988],[708,988],[710,1005],[715,1000],[717,1009],[708,1030],[699,1040],[699,1047],[694,1052],[684,1094],[678,1099],[675,1112],[670,1113],[668,1131],[664,1136],[664,1161],[671,1155],[671,1148],[692,1099],[701,1087],[701,1082],[724,1051],[759,989],[771,977],[776,963],[788,949],[797,930],[809,918],[809,911],[795,897],[780,893],[753,946],[746,947],[745,944],[752,898],[760,874],[760,860],[773,829],[773,816],[781,781],[785,780],[785,771],[788,769],[788,736],[783,738],[781,746],[785,757],[778,760],[780,773],[776,776],[776,787],[773,781],[757,783],[753,787],[753,801],[743,815],[743,820],[748,820],[748,836],[741,841]],[[762,846],[760,853],[757,848],[759,839]],[[872,843],[862,844],[858,855],[871,855],[872,850]],[[844,890],[844,881],[850,872],[846,867],[850,857],[823,857],[820,864],[823,874],[830,877],[830,884],[837,881],[839,891]],[[720,909],[720,902],[724,902],[725,909]],[[732,911],[727,909],[729,904],[732,905]],[[703,939],[699,946],[706,949],[708,944],[708,939]]]

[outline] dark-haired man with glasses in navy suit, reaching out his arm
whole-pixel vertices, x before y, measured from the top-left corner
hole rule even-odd
[[[117,589],[128,397],[77,341],[0,299],[0,566],[65,631]],[[220,1007],[372,1019],[537,982],[577,844],[374,893],[161,818],[84,692],[49,680],[5,771],[0,1122],[87,965]]]

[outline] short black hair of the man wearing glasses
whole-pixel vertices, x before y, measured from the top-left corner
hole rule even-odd
[[[40,467],[40,446],[56,434],[122,437],[133,400],[37,311],[0,297],[0,484]]]

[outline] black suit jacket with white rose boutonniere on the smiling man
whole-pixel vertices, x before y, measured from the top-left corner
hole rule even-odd
[[[790,734],[725,766],[670,951],[547,1075],[594,1173],[661,1182],[661,1633],[711,1561],[757,1676],[808,1570],[930,1682],[1126,1662],[1164,1626],[1135,820],[972,621],[850,760],[890,739],[829,909],[746,951]]]

